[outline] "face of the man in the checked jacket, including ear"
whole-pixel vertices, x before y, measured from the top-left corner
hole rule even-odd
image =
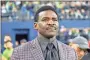
[[[58,31],[58,16],[51,10],[40,12],[38,22],[34,26],[41,35],[51,38]]]

